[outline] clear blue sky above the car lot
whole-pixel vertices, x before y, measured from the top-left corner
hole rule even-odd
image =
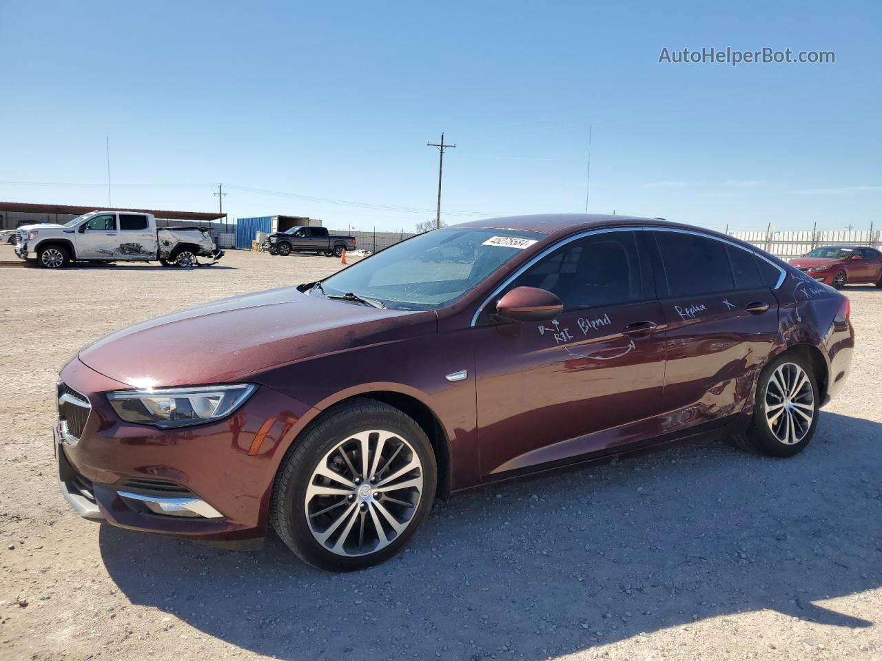
[[[234,217],[408,230],[444,130],[448,222],[581,212],[593,125],[593,212],[882,227],[880,25],[875,1],[0,0],[0,200],[106,204],[109,137],[116,206],[213,210],[223,182]],[[836,63],[658,63],[727,46]]]

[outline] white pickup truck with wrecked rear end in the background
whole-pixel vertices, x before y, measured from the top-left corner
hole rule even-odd
[[[15,254],[35,259],[47,269],[71,262],[152,262],[163,266],[198,266],[198,257],[214,264],[223,250],[214,245],[207,227],[156,227],[150,213],[89,212],[64,225],[19,227]]]

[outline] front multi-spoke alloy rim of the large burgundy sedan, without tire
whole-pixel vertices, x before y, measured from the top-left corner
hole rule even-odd
[[[322,457],[306,487],[310,532],[343,556],[376,553],[407,530],[422,497],[422,463],[400,434],[348,436]]]

